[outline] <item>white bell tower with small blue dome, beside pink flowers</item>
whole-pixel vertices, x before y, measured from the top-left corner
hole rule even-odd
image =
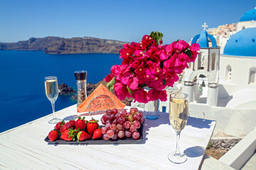
[[[209,47],[209,40],[212,47]],[[220,48],[213,35],[206,30],[196,35],[191,43],[196,42],[201,50],[195,62],[190,63],[183,74],[183,92],[188,94],[189,102],[206,102],[210,106],[217,106]],[[203,86],[206,88],[203,89]]]

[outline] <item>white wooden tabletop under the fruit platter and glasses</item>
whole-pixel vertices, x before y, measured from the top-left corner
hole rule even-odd
[[[65,120],[77,118],[76,114],[76,105],[56,113]],[[158,120],[146,120],[144,140],[131,145],[48,145],[44,139],[54,127],[47,123],[51,116],[0,134],[0,169],[198,169],[199,164],[199,169],[231,169],[204,155],[213,120],[188,119],[180,140],[188,160],[173,164],[167,156],[176,147],[176,134],[167,113]],[[97,120],[100,117],[93,115]]]

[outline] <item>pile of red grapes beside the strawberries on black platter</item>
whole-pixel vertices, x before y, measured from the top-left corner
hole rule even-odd
[[[100,119],[105,127],[101,128],[104,140],[117,140],[123,137],[132,137],[138,140],[140,137],[137,131],[144,123],[144,115],[137,108],[130,108],[127,113],[126,110],[118,112],[116,108],[108,109]]]

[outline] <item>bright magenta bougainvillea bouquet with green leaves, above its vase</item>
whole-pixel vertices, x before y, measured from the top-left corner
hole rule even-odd
[[[178,74],[196,60],[200,45],[189,45],[184,40],[162,45],[162,38],[162,33],[152,32],[144,35],[141,42],[125,44],[119,51],[122,64],[112,66],[105,77],[107,87],[114,89],[117,98],[132,97],[139,103],[167,100],[164,89],[173,86]]]

